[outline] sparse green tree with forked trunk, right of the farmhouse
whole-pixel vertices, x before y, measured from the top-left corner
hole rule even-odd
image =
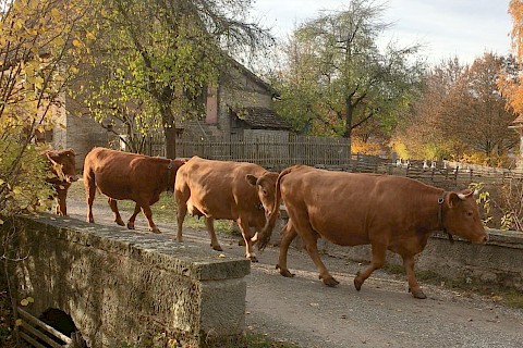
[[[379,22],[382,10],[354,0],[294,32],[277,107],[300,130],[350,138],[364,125],[367,137],[393,129],[424,64],[415,58],[417,45],[399,49],[391,42],[380,50],[379,35],[389,26]]]

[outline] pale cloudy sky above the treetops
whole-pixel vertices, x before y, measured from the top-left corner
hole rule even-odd
[[[510,0],[374,0],[385,4],[382,21],[391,23],[384,45],[400,47],[421,44],[421,54],[431,64],[458,57],[472,63],[484,52],[511,52]],[[297,24],[321,10],[346,8],[348,0],[254,0],[253,15],[278,38],[287,38]]]

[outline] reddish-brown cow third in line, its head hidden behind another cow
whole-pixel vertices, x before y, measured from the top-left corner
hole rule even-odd
[[[169,160],[136,153],[94,148],[85,157],[84,185],[87,196],[87,221],[94,222],[93,201],[96,188],[108,197],[109,207],[114,213],[114,222],[125,224],[118,211],[117,201],[130,199],[136,202],[127,221],[127,228],[134,229],[134,221],[139,210],[149,223],[149,231],[160,233],[153,222],[150,206],[160,199],[163,191],[172,191],[178,169],[184,160]]]

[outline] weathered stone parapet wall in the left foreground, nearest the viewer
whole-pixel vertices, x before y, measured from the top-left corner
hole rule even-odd
[[[65,312],[90,348],[242,339],[248,260],[58,216],[16,221],[19,300],[33,297],[35,316]]]

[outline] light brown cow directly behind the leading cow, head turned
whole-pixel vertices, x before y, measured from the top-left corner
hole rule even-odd
[[[174,185],[178,202],[178,240],[182,241],[182,225],[187,209],[191,214],[205,216],[211,247],[221,250],[215,234],[214,220],[234,220],[245,240],[246,258],[257,261],[252,250],[250,227],[260,232],[266,212],[272,211],[278,173],[253,163],[223,162],[193,157],[182,166]]]

